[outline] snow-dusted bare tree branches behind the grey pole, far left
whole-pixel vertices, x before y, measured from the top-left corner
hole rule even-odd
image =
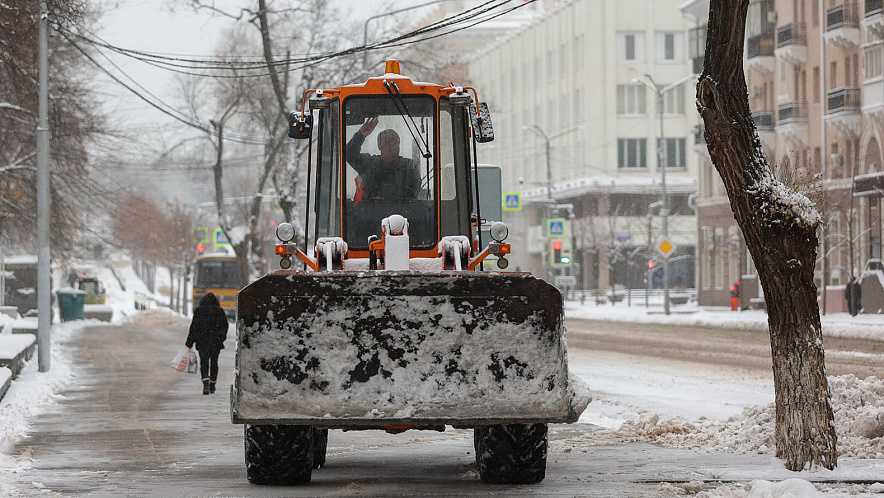
[[[50,0],[54,26],[87,23],[80,0]],[[0,244],[33,250],[36,237],[37,2],[0,2]],[[52,133],[51,237],[64,258],[91,234],[86,220],[107,205],[92,180],[89,147],[102,133],[83,56],[67,40],[49,40],[49,120]]]

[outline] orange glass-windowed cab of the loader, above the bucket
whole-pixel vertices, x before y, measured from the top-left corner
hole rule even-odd
[[[411,269],[412,259],[423,261],[425,269],[445,269],[446,260],[452,269],[472,269],[488,254],[498,254],[505,265],[509,246],[502,239],[481,258],[476,254],[480,213],[470,188],[476,181],[470,125],[480,130],[476,141],[490,141],[493,133],[487,107],[477,107],[470,90],[475,94],[471,88],[414,82],[399,74],[397,61],[388,61],[386,74],[364,84],[308,90],[309,112],[291,116],[289,134],[317,140],[307,213],[317,250],[308,257],[307,251],[290,251],[283,240],[277,248],[281,266],[290,266],[286,259],[297,255],[314,270],[327,264]],[[407,245],[391,237],[407,237]],[[457,255],[446,258],[449,247]],[[323,253],[329,248],[330,263]]]

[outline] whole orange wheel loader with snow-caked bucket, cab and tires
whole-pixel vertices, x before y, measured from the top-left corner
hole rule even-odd
[[[237,296],[231,418],[250,482],[310,482],[329,429],[446,426],[474,429],[483,481],[539,482],[547,424],[586,408],[561,293],[484,269],[506,268],[511,247],[501,222],[480,240],[471,153],[493,131],[475,96],[388,61],[363,84],[308,90],[290,116],[289,136],[310,141],[313,244],[281,223],[282,270]]]

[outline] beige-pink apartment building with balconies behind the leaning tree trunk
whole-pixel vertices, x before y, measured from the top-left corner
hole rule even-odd
[[[702,67],[709,1],[690,0],[680,8],[695,23],[691,57]],[[827,311],[845,311],[843,286],[880,268],[882,35],[881,0],[749,5],[744,61],[752,117],[777,176],[805,190],[823,215],[816,280]],[[761,292],[751,258],[701,127],[694,150],[700,157],[699,302],[726,303],[731,283],[741,279],[744,305],[760,303],[753,299]],[[866,312],[877,313],[881,285],[877,278],[863,280]]]

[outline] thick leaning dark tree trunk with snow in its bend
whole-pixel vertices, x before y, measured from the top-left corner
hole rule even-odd
[[[748,4],[711,2],[697,108],[767,301],[777,456],[790,470],[832,469],[837,437],[813,281],[820,217],[805,196],[774,178],[752,121],[743,76]]]

